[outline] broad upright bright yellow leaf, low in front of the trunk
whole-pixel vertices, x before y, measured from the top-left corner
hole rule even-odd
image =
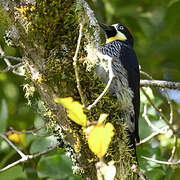
[[[88,136],[88,145],[91,151],[97,155],[99,158],[102,158],[109,147],[112,137],[114,136],[114,127],[111,123],[106,125],[97,124],[91,130]]]

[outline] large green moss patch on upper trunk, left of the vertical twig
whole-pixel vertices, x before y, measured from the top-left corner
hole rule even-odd
[[[68,92],[76,87],[72,58],[79,30],[75,4],[71,0],[36,0],[35,7],[24,5],[16,11],[22,15],[28,42],[44,49],[47,69],[41,72],[43,80],[59,94],[72,95]]]

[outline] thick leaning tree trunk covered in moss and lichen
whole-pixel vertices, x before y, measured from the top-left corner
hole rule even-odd
[[[78,55],[80,84],[86,106],[93,103],[105,85],[95,75],[98,62],[99,26],[92,10],[84,0],[26,0],[0,1],[0,14],[9,25],[11,40],[21,51],[27,77],[33,82],[45,104],[52,125],[59,125],[57,134],[71,147],[71,158],[84,179],[97,179],[97,158],[89,150],[81,127],[67,118],[65,109],[54,97],[73,97],[81,101],[77,90],[73,57],[83,25],[83,38]],[[89,57],[89,58],[87,58]],[[115,136],[105,160],[115,161],[117,179],[134,179],[133,158],[128,151],[118,104],[106,95],[91,110],[89,121],[97,121],[101,113],[108,113]]]

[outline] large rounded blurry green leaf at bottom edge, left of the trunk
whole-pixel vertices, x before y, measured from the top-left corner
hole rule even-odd
[[[64,180],[70,178],[73,173],[71,169],[72,163],[61,152],[54,152],[51,155],[42,156],[38,163],[38,176],[40,178],[55,178]]]

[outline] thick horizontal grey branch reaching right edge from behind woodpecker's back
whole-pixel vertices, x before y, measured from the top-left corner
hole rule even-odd
[[[140,85],[144,87],[160,87],[180,90],[180,82],[162,81],[162,80],[141,80]]]

